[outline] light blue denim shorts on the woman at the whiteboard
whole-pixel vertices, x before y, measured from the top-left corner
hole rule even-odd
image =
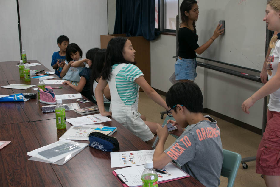
[[[196,73],[197,62],[195,58],[186,59],[182,58],[176,61],[175,63],[175,76],[176,80],[191,80],[194,81]]]

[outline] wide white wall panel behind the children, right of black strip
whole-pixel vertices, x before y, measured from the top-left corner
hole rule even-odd
[[[100,35],[108,33],[107,1],[19,1],[22,49],[27,60],[37,59],[52,69],[52,54],[59,51],[57,38],[66,35],[85,53],[100,47]]]

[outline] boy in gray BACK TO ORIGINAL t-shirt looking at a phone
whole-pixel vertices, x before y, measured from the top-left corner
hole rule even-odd
[[[177,83],[166,95],[170,108],[168,120],[178,129],[171,131],[179,136],[166,150],[167,126],[159,127],[158,145],[153,155],[154,168],[161,169],[175,160],[181,168],[205,186],[219,186],[223,164],[223,148],[217,121],[202,114],[203,96],[195,83]],[[184,129],[186,128],[186,129]]]

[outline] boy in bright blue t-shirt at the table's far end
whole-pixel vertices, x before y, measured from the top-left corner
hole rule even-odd
[[[66,48],[69,44],[69,38],[67,36],[61,35],[57,38],[57,45],[59,51],[54,52],[52,55],[52,68],[55,69],[55,74],[60,78],[60,72],[65,64]]]

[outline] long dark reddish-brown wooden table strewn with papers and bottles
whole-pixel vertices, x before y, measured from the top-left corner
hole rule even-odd
[[[15,66],[15,62],[9,62],[9,64],[14,63],[13,66]],[[6,63],[0,62],[0,68],[2,66],[8,68]],[[38,66],[34,66],[33,69],[38,69]],[[47,71],[46,67],[42,67],[42,69]],[[16,68],[14,68],[15,70]],[[14,76],[7,76],[5,73],[7,80],[0,81],[0,85],[24,84],[19,77],[16,79],[16,74],[18,71],[14,72]],[[32,80],[31,83],[37,85],[38,80]],[[63,89],[54,91],[56,94],[76,93],[67,85],[63,85]],[[26,90],[0,88],[1,95],[28,92],[37,91],[32,88]],[[63,100],[63,103],[75,102],[74,100]],[[66,122],[66,129],[57,130],[55,113],[43,114],[41,105],[44,104],[39,103],[38,98],[26,102],[0,103],[0,105],[0,141],[11,141],[0,150],[1,186],[122,186],[112,174],[113,170],[119,168],[111,168],[110,152],[86,147],[63,166],[28,160],[27,152],[58,141],[66,129],[71,127],[71,124]],[[94,103],[79,103],[79,105],[80,107],[93,106]],[[74,111],[66,111],[67,118],[78,116],[81,115]],[[113,136],[119,141],[119,151],[152,149],[115,120],[101,124],[118,127]],[[88,141],[79,142],[88,143]],[[203,185],[193,177],[188,177],[159,186]]]

